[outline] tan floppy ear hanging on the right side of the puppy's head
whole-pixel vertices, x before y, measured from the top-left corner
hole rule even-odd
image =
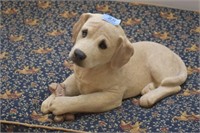
[[[134,49],[131,43],[125,37],[120,37],[118,48],[111,59],[111,67],[113,69],[122,67],[129,61],[133,53]]]

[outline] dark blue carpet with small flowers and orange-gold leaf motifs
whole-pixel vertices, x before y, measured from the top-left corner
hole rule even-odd
[[[189,74],[182,91],[149,109],[138,96],[71,122],[42,114],[48,84],[72,73],[71,30],[84,12],[120,18],[132,42],[155,41],[180,55]],[[199,12],[114,1],[1,1],[0,15],[1,132],[200,132]]]

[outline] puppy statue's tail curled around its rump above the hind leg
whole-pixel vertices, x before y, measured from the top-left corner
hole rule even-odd
[[[180,62],[179,73],[176,76],[163,79],[161,82],[161,86],[179,86],[187,79],[187,68],[185,66],[185,63],[181,60],[180,57],[178,58],[178,61]]]

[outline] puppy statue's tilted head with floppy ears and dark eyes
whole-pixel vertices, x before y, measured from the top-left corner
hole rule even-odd
[[[104,21],[101,14],[82,14],[72,34],[75,44],[69,56],[79,67],[110,64],[112,68],[120,68],[133,55],[133,47],[122,28]]]

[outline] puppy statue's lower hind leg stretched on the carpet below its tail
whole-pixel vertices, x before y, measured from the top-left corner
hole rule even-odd
[[[181,90],[180,86],[159,86],[157,89],[149,91],[145,95],[140,98],[140,105],[142,107],[151,107],[159,100],[170,96],[172,94],[176,94]]]

